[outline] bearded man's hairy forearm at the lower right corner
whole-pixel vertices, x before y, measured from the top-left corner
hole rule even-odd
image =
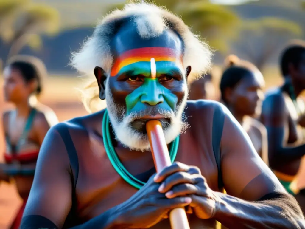
[[[256,202],[219,194],[215,219],[228,228],[305,228],[303,214],[289,194],[272,193]]]

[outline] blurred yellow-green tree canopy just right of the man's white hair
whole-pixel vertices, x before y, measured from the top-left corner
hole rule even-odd
[[[214,49],[225,52],[228,41],[236,38],[240,18],[223,5],[212,4],[208,0],[155,0],[156,5],[165,6],[180,15],[194,33],[209,42]],[[122,9],[124,4],[112,5],[108,11]]]

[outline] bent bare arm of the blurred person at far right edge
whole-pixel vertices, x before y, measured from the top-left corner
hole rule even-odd
[[[284,147],[288,139],[288,113],[281,94],[267,96],[263,102],[261,121],[267,128],[268,154],[271,168],[300,159],[305,155],[305,144]]]

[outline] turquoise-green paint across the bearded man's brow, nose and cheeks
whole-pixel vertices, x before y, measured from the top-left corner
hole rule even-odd
[[[179,75],[182,77],[182,65],[179,62],[173,61],[154,61],[155,71],[157,70],[157,72],[152,73],[151,64],[151,62],[138,62],[121,69],[121,72],[129,71],[132,72],[132,75],[142,75],[145,77],[142,85],[134,89],[125,98],[127,115],[131,112],[144,111],[147,109],[147,106],[157,105],[159,109],[165,111],[175,111],[176,109],[178,97],[173,93],[173,90],[183,93],[184,87],[181,87],[181,85],[186,84],[185,80],[177,81],[173,79],[164,84],[164,82],[161,83],[162,79],[159,82],[158,76]]]

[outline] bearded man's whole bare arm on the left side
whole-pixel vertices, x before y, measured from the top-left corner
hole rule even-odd
[[[23,213],[21,229],[62,228],[70,212],[71,193],[74,187],[71,183],[70,161],[67,154],[69,149],[66,149],[58,132],[63,125],[65,124],[55,125],[45,136]],[[73,228],[111,228],[115,216],[115,210],[110,209]]]

